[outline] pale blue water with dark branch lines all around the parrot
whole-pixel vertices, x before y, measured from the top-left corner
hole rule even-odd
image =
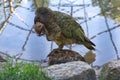
[[[94,65],[119,58],[119,0],[0,0],[0,53],[41,61],[57,48],[45,35],[39,37],[34,32],[35,10],[42,6],[76,19],[86,36],[96,44]],[[76,44],[72,45],[72,50],[81,55],[88,52],[84,46]]]

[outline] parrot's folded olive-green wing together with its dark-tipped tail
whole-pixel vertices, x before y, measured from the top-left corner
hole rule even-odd
[[[54,11],[54,18],[61,29],[61,33],[69,39],[76,40],[78,44],[84,44],[88,49],[94,50],[95,44],[92,43],[86,36],[79,23],[68,14]],[[93,46],[92,46],[93,45]]]

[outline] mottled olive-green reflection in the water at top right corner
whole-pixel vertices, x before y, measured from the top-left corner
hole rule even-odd
[[[92,0],[92,5],[94,7],[99,6],[101,9],[103,9],[107,17],[119,20],[119,17],[120,17],[120,1],[119,0],[114,0],[114,1],[113,0]]]

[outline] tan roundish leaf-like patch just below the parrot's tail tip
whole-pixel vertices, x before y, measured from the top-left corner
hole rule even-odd
[[[93,63],[96,59],[96,55],[95,55],[95,53],[93,53],[91,50],[90,51],[88,51],[87,53],[86,53],[86,55],[84,56],[84,59],[85,59],[85,61],[88,63],[88,64],[91,64],[91,63]]]

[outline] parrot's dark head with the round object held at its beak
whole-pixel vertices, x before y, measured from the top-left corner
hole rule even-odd
[[[34,29],[38,35],[53,21],[53,11],[46,7],[40,7],[35,12]]]

